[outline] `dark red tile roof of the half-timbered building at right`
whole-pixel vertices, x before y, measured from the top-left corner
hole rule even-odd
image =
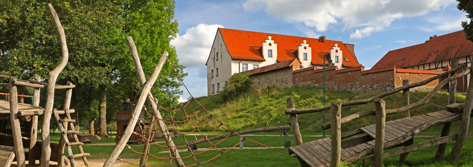
[[[372,69],[393,65],[405,68],[470,55],[473,55],[473,42],[465,39],[462,30],[437,36],[429,42],[391,50]]]

